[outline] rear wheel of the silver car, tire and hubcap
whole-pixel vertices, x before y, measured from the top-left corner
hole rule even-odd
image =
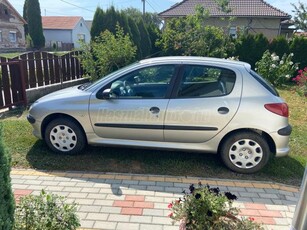
[[[252,131],[232,134],[220,150],[224,164],[238,173],[258,172],[268,163],[271,154],[266,140]]]

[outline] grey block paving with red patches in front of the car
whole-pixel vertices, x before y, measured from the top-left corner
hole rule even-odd
[[[233,206],[241,215],[270,230],[289,229],[299,198],[295,187],[239,180],[18,169],[12,170],[11,178],[16,199],[22,196],[20,189],[38,195],[45,188],[66,196],[68,203],[76,202],[83,229],[178,230],[167,206],[198,181],[236,194]]]

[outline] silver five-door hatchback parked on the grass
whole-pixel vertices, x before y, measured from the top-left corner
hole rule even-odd
[[[249,64],[203,57],[139,61],[37,100],[28,121],[57,153],[87,144],[218,153],[239,173],[289,153],[288,106]]]

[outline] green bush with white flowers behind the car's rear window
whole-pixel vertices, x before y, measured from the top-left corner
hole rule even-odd
[[[257,72],[274,86],[282,86],[290,82],[298,65],[292,61],[293,54],[283,55],[280,59],[275,53],[265,51],[261,60],[256,63]]]

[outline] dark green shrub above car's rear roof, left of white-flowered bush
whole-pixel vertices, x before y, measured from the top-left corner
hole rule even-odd
[[[268,49],[269,41],[263,34],[247,34],[238,38],[235,55],[240,61],[245,61],[255,68],[255,63],[261,59]]]

